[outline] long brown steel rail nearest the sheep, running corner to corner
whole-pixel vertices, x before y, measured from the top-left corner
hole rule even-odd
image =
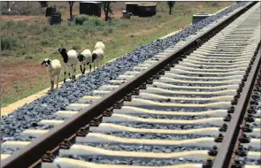
[[[248,11],[257,2],[251,2],[233,15],[221,21],[216,27],[201,34],[195,40],[189,41],[180,50],[174,51],[164,59],[158,61],[157,64],[151,65],[142,73],[137,74],[133,79],[127,80],[119,88],[114,89],[111,93],[104,95],[103,98],[92,103],[87,108],[84,108],[72,118],[68,118],[64,123],[54,127],[47,134],[43,134],[35,141],[31,142],[27,147],[20,149],[18,152],[7,157],[1,163],[2,168],[14,167],[29,167],[38,161],[47,151],[57,148],[62,141],[72,136],[81,129],[82,126],[88,125],[94,118],[103,114],[108,108],[111,108],[117,101],[122,100],[135,88],[139,88],[144,82],[150,80],[153,75],[164,70],[166,65],[170,65],[175,58],[181,57],[182,54],[194,49],[196,46],[201,45],[201,42],[207,41],[211,36],[217,34],[223,27],[226,27],[234,19],[241,16],[245,11]]]

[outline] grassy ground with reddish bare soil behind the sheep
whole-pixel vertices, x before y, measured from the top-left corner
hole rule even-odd
[[[69,16],[67,4],[56,4],[60,6],[63,19],[66,20]],[[119,19],[119,9],[123,3],[116,3],[113,9],[116,9],[114,13],[117,14],[110,22],[90,18],[81,26],[67,21],[63,21],[60,26],[49,26],[42,15],[0,17],[3,34],[1,42],[7,45],[1,52],[2,106],[50,86],[49,76],[40,63],[45,57],[60,59],[57,50],[62,44],[66,49],[81,52],[84,49],[92,50],[97,41],[104,41],[108,49],[105,63],[180,27],[187,27],[196,12],[212,13],[230,4],[178,2],[173,8],[173,15],[169,15],[165,2],[160,2],[156,16],[125,20]],[[77,13],[78,4],[73,8],[73,14]]]

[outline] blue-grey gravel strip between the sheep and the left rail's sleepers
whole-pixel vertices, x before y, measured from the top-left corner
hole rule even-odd
[[[44,95],[33,103],[25,104],[8,116],[2,117],[1,141],[18,140],[22,131],[35,127],[35,123],[42,119],[59,119],[58,116],[52,114],[57,111],[64,111],[68,104],[75,103],[83,95],[92,95],[92,90],[107,84],[109,80],[116,79],[119,74],[132,70],[135,65],[141,64],[177,42],[185,40],[190,34],[196,34],[197,30],[206,27],[211,22],[245,4],[246,2],[234,4],[215,16],[183,29],[178,34],[143,45],[139,49],[133,50],[131,53],[96,69],[94,72],[83,75],[75,81],[66,82],[57,91]]]

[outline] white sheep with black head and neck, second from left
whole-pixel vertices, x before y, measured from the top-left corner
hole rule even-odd
[[[72,73],[73,73],[73,80],[75,80],[75,73],[76,73],[76,65],[78,62],[78,53],[76,50],[68,50],[66,52],[65,48],[58,49],[58,52],[62,55],[64,58],[64,66],[65,66],[65,76],[66,76],[66,69],[72,67]],[[69,74],[69,78],[71,80],[71,74]],[[65,77],[64,77],[64,82],[65,82]]]

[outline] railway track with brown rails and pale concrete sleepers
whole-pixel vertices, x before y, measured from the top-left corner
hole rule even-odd
[[[260,18],[249,3],[4,141],[2,167],[259,167]]]

